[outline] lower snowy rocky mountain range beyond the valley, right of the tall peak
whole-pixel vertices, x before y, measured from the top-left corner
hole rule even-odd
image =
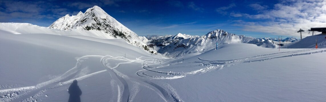
[[[169,57],[178,57],[188,53],[203,53],[216,48],[219,45],[228,43],[250,43],[266,48],[277,48],[272,40],[259,40],[252,37],[238,36],[224,30],[216,29],[204,36],[190,36],[177,34],[174,36],[164,36],[161,39],[150,37],[148,45],[158,50],[159,53]]]

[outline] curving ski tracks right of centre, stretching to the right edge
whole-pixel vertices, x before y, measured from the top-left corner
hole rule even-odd
[[[317,51],[315,51],[317,50]],[[313,52],[311,52],[313,51]],[[248,63],[248,62],[257,62],[257,61],[267,61],[272,60],[276,58],[283,58],[283,57],[291,57],[291,56],[299,56],[299,55],[307,55],[307,54],[314,54],[314,53],[321,53],[325,52],[326,50],[320,50],[320,49],[304,49],[304,50],[296,50],[296,51],[285,51],[285,52],[276,52],[276,53],[269,53],[269,54],[262,54],[262,55],[256,55],[256,56],[250,56],[250,57],[244,57],[244,58],[238,58],[233,60],[203,60],[199,57],[199,61],[193,61],[193,62],[187,62],[183,63],[181,61],[179,62],[172,62],[169,64],[147,64],[144,63],[142,68],[143,70],[138,71],[136,74],[141,77],[150,78],[150,79],[177,79],[182,78],[187,75],[194,75],[194,74],[203,74],[206,72],[210,72],[213,70],[219,70],[223,69],[225,67],[230,67],[235,64],[239,63]],[[181,59],[181,58],[179,58]],[[198,64],[194,64],[198,63]],[[173,66],[178,64],[178,66]],[[186,64],[186,65],[180,65],[180,64]],[[151,67],[151,65],[158,65],[156,67]],[[172,66],[171,66],[172,65]],[[192,70],[187,70],[191,69]],[[185,69],[188,72],[173,72],[173,69]],[[162,76],[158,76],[162,75]]]

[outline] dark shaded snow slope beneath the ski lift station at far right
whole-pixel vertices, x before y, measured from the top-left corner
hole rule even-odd
[[[326,35],[323,34],[308,36],[281,48],[316,48],[316,40],[318,48],[326,48]]]

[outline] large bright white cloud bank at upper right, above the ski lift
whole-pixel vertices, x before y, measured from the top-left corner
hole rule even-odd
[[[303,36],[308,36],[310,35],[308,29],[326,27],[326,1],[292,0],[275,4],[273,9],[263,10],[256,15],[233,14],[233,17],[242,16],[261,20],[260,22],[238,22],[237,25],[243,27],[244,31],[299,37],[300,34],[296,31],[302,28],[305,30]]]

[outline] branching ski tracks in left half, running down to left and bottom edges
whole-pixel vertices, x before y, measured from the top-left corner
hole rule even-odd
[[[105,68],[105,70],[94,72],[91,74],[86,74],[89,70],[88,68],[81,68],[82,62],[85,60],[88,60],[89,58],[101,58],[100,62]],[[85,78],[94,76],[96,74],[102,73],[102,72],[108,72],[111,75],[112,80],[110,81],[111,83],[111,88],[112,88],[112,94],[116,95],[115,97],[112,97],[108,101],[113,101],[113,102],[128,102],[128,101],[133,101],[135,98],[136,94],[139,92],[139,85],[143,85],[145,87],[148,87],[151,90],[154,90],[157,92],[159,96],[162,97],[163,100],[170,102],[170,101],[176,101],[176,98],[170,98],[175,96],[169,95],[171,92],[166,91],[164,88],[160,87],[159,85],[156,85],[152,82],[142,80],[142,84],[140,84],[135,78],[129,78],[127,75],[120,73],[119,71],[115,70],[115,68],[119,67],[121,64],[126,64],[126,63],[131,63],[131,62],[136,62],[136,63],[162,63],[164,60],[162,59],[150,59],[149,57],[140,57],[137,58],[136,60],[129,60],[124,57],[112,57],[112,56],[99,56],[99,55],[87,55],[87,56],[82,56],[82,57],[76,57],[77,60],[76,66],[73,67],[72,69],[68,70],[64,74],[55,77],[49,81],[39,83],[35,86],[27,86],[27,87],[18,87],[18,88],[11,88],[11,89],[3,89],[0,90],[0,101],[37,101],[39,96],[43,96],[43,93],[49,89],[61,87],[61,86],[66,86],[70,85],[74,80],[81,81]],[[145,60],[142,60],[145,59]],[[112,60],[118,60],[124,61],[121,63],[115,63],[115,64],[110,64],[110,61]],[[86,72],[85,72],[86,71]],[[77,74],[78,73],[78,74]],[[73,76],[78,76],[77,78],[72,78],[70,79],[69,77]],[[132,83],[132,89],[130,92],[129,90],[129,85],[127,81],[130,81]],[[139,81],[138,80],[138,81]],[[130,95],[130,93],[132,93]],[[180,100],[180,98],[178,98]],[[178,102],[178,101],[176,101]]]

